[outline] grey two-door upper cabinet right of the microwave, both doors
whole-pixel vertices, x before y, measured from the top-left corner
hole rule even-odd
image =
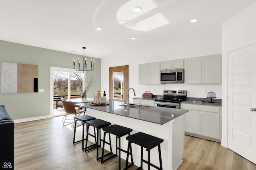
[[[184,59],[186,84],[220,84],[221,55]]]

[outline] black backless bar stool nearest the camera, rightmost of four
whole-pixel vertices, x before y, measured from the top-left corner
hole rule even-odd
[[[132,143],[135,143],[139,146],[141,146],[141,154],[140,154],[140,167],[138,169],[142,169],[142,162],[145,162],[148,164],[148,170],[150,170],[150,166],[153,166],[154,168],[158,170],[162,170],[162,157],[161,157],[161,149],[160,149],[160,143],[162,143],[164,140],[160,139],[158,137],[154,137],[151,135],[148,135],[146,133],[138,132],[133,135],[130,135],[126,137],[126,139],[129,141],[128,142],[128,149],[132,150]],[[157,167],[156,165],[150,163],[150,150],[153,149],[154,147],[158,146],[158,154],[159,154],[159,163],[160,167]],[[148,161],[143,159],[143,147],[146,148],[146,151],[148,151]],[[126,157],[126,168],[128,168],[128,154]]]

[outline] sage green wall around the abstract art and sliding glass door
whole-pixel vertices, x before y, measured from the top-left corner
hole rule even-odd
[[[6,107],[14,120],[50,115],[50,67],[73,68],[73,59],[77,58],[82,61],[81,55],[0,40],[0,62],[38,65],[38,91],[39,88],[44,89],[44,92],[37,93],[0,93],[0,105]],[[95,68],[92,72],[86,72],[86,77],[94,75],[96,82],[87,97],[93,97],[100,91],[101,59],[86,57],[88,61],[91,59],[95,61]]]

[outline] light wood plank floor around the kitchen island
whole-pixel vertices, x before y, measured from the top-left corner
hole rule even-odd
[[[61,117],[16,123],[14,131],[16,170],[117,170],[118,158],[104,164],[96,161],[96,150],[82,151],[73,145],[72,125],[62,127]],[[76,139],[82,138],[82,127]],[[101,153],[101,152],[100,152]],[[256,170],[256,165],[220,146],[220,143],[185,136],[184,161],[178,170]],[[121,168],[125,161],[122,160]],[[134,170],[132,166],[129,170]]]

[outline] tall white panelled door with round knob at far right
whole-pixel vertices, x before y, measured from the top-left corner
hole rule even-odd
[[[228,53],[228,148],[256,164],[256,45]]]

